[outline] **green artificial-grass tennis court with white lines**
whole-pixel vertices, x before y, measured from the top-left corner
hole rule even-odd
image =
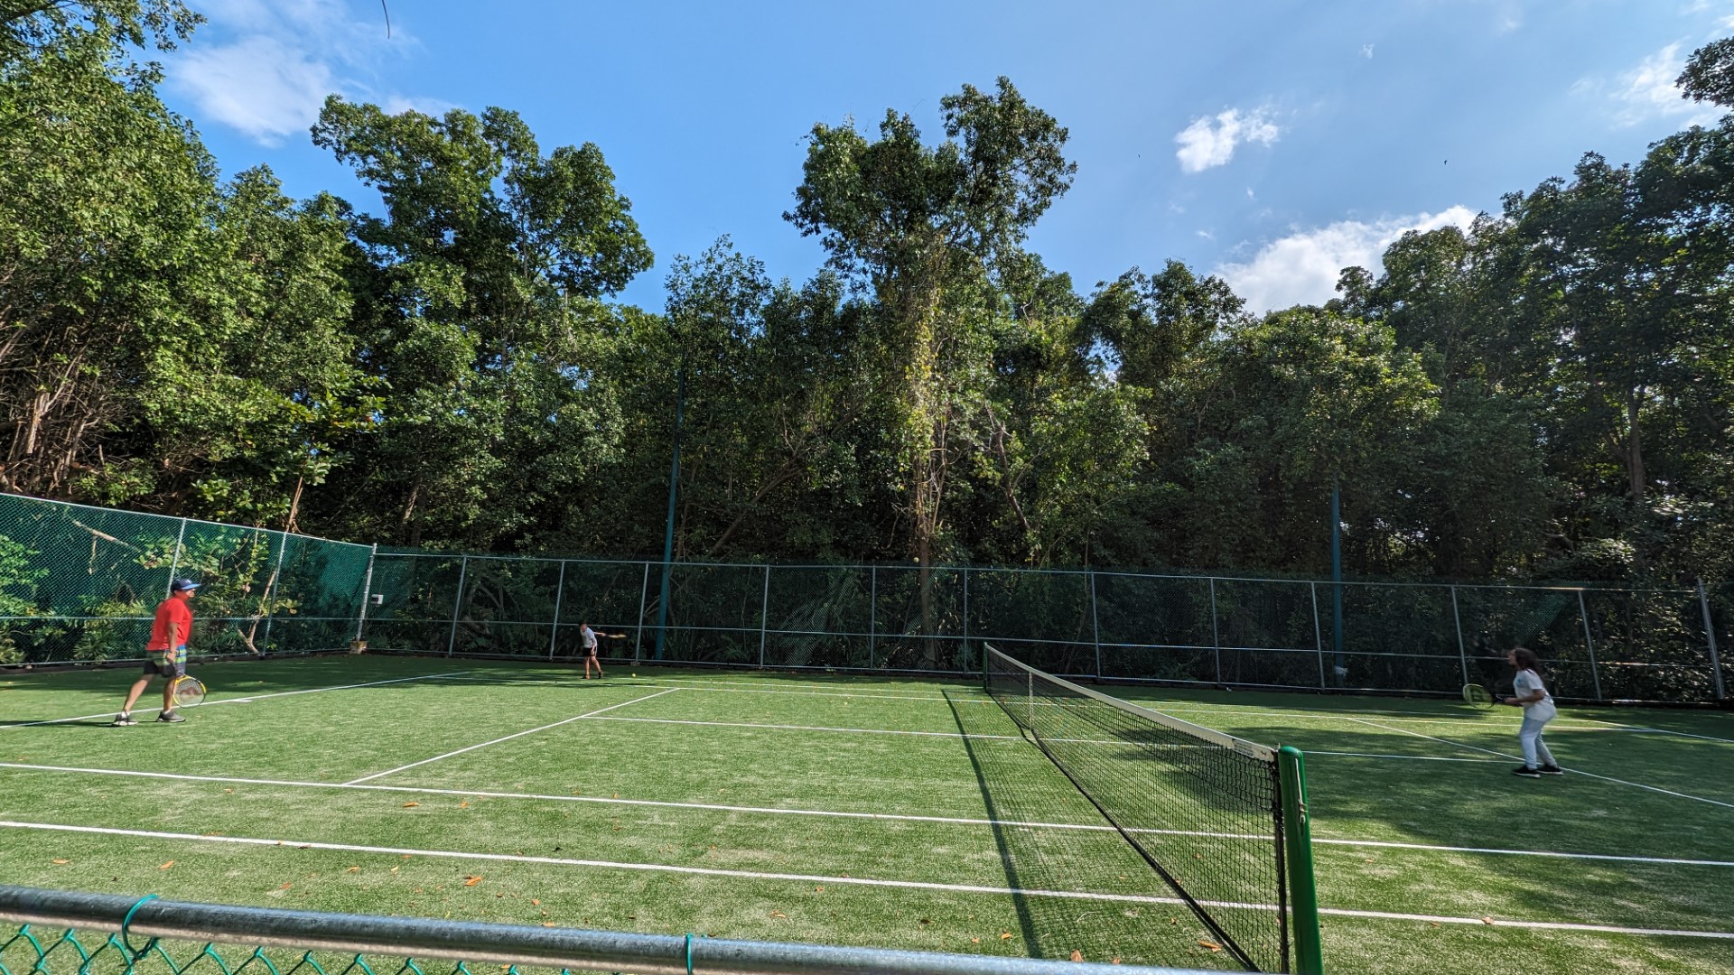
[[[0,871],[187,900],[1233,968],[976,682],[435,658],[0,678]],[[1111,687],[1306,751],[1330,972],[1734,968],[1734,718]],[[1174,848],[1169,845],[1167,848]],[[1200,854],[1209,852],[1200,845]],[[1257,907],[1257,906],[1254,906]]]

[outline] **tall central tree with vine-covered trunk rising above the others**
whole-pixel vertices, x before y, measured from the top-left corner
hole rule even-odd
[[[874,300],[870,337],[890,411],[909,552],[921,566],[931,631],[931,566],[966,390],[978,385],[992,278],[1072,182],[1066,130],[1001,78],[940,101],[947,141],[921,142],[909,115],[888,111],[879,139],[853,125],[815,125],[796,208],[784,217],[829,252],[829,265]]]

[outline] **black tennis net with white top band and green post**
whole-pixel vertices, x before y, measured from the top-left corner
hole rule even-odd
[[[1299,753],[1079,687],[994,647],[985,647],[985,684],[1243,966],[1292,972],[1292,935],[1306,933],[1313,940],[1300,954],[1316,958],[1306,812],[1300,796],[1285,796],[1280,769],[1280,758]],[[1299,791],[1299,769],[1287,779]],[[1290,821],[1295,836],[1285,834]],[[1304,883],[1294,918],[1290,880]]]

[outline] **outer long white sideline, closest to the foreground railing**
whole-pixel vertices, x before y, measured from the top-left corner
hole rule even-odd
[[[146,840],[189,840],[194,843],[238,843],[244,847],[288,847],[295,850],[338,850],[347,854],[388,854],[395,857],[444,857],[458,860],[492,860],[492,862],[513,862],[513,864],[546,864],[546,866],[570,866],[570,867],[598,867],[598,869],[617,869],[617,871],[645,871],[645,873],[678,873],[678,874],[697,874],[697,876],[725,876],[739,880],[786,880],[799,883],[817,883],[817,885],[848,885],[848,887],[891,887],[903,890],[943,890],[948,893],[994,893],[1001,897],[1056,897],[1066,900],[1106,900],[1118,904],[1169,904],[1181,906],[1184,900],[1179,897],[1150,897],[1141,893],[1094,893],[1085,890],[1030,890],[1018,887],[988,887],[976,883],[935,883],[921,880],[877,880],[867,876],[827,876],[827,874],[806,874],[806,873],[765,873],[765,871],[732,871],[720,867],[683,867],[675,864],[631,864],[619,860],[581,860],[576,857],[534,857],[524,854],[468,854],[460,850],[421,850],[414,847],[364,847],[359,843],[316,843],[302,840],[265,840],[257,836],[199,836],[194,833],[161,833],[154,829],[114,829],[108,826],[61,826],[52,822],[14,822],[0,821],[0,828],[7,829],[40,829],[52,833],[95,833],[102,836],[139,836]],[[1274,904],[1247,904],[1238,900],[1200,900],[1205,907],[1224,907],[1238,911],[1274,911]],[[1651,935],[1651,937],[1696,937],[1696,939],[1720,939],[1734,940],[1734,932],[1691,932],[1675,928],[1625,928],[1616,925],[1578,925],[1566,921],[1510,921],[1484,918],[1453,918],[1448,914],[1399,914],[1394,911],[1354,911],[1344,907],[1320,907],[1320,914],[1328,914],[1335,918],[1379,918],[1389,921],[1432,921],[1439,925],[1481,925],[1496,928],[1536,928],[1536,930],[1566,930],[1566,932],[1602,932],[1618,935]]]

